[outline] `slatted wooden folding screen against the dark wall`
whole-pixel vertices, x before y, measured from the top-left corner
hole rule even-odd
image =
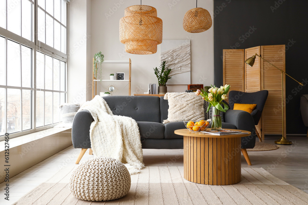
[[[282,134],[282,120],[286,133],[286,109],[282,111],[281,72],[263,59],[256,57],[253,67],[244,61],[255,53],[285,71],[285,45],[265,45],[248,49],[224,49],[224,84],[230,84],[232,90],[256,92],[268,90],[259,124],[256,126],[264,140],[265,134]],[[285,91],[285,76],[283,76]],[[230,90],[231,90],[230,89]],[[286,93],[283,93],[285,100]],[[286,136],[285,136],[286,137]]]

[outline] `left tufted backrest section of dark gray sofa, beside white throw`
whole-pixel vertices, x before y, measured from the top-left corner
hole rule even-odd
[[[137,122],[158,122],[160,118],[160,99],[155,96],[105,96],[114,115],[128,116]],[[168,105],[168,101],[167,101]],[[168,108],[167,108],[168,115]],[[166,118],[167,119],[167,118]],[[165,120],[165,119],[164,119]]]

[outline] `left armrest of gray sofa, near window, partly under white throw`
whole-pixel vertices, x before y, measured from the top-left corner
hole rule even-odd
[[[74,148],[91,148],[90,125],[93,121],[91,113],[87,110],[81,110],[76,113],[72,124]]]

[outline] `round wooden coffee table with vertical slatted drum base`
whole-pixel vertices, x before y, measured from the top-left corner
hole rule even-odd
[[[186,180],[210,185],[229,185],[241,181],[241,137],[250,136],[251,132],[218,136],[179,129],[174,133],[184,136]]]

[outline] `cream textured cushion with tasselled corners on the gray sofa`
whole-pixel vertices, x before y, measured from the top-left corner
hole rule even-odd
[[[165,100],[168,100],[168,122],[185,120],[204,120],[203,99],[195,93],[166,93]]]

